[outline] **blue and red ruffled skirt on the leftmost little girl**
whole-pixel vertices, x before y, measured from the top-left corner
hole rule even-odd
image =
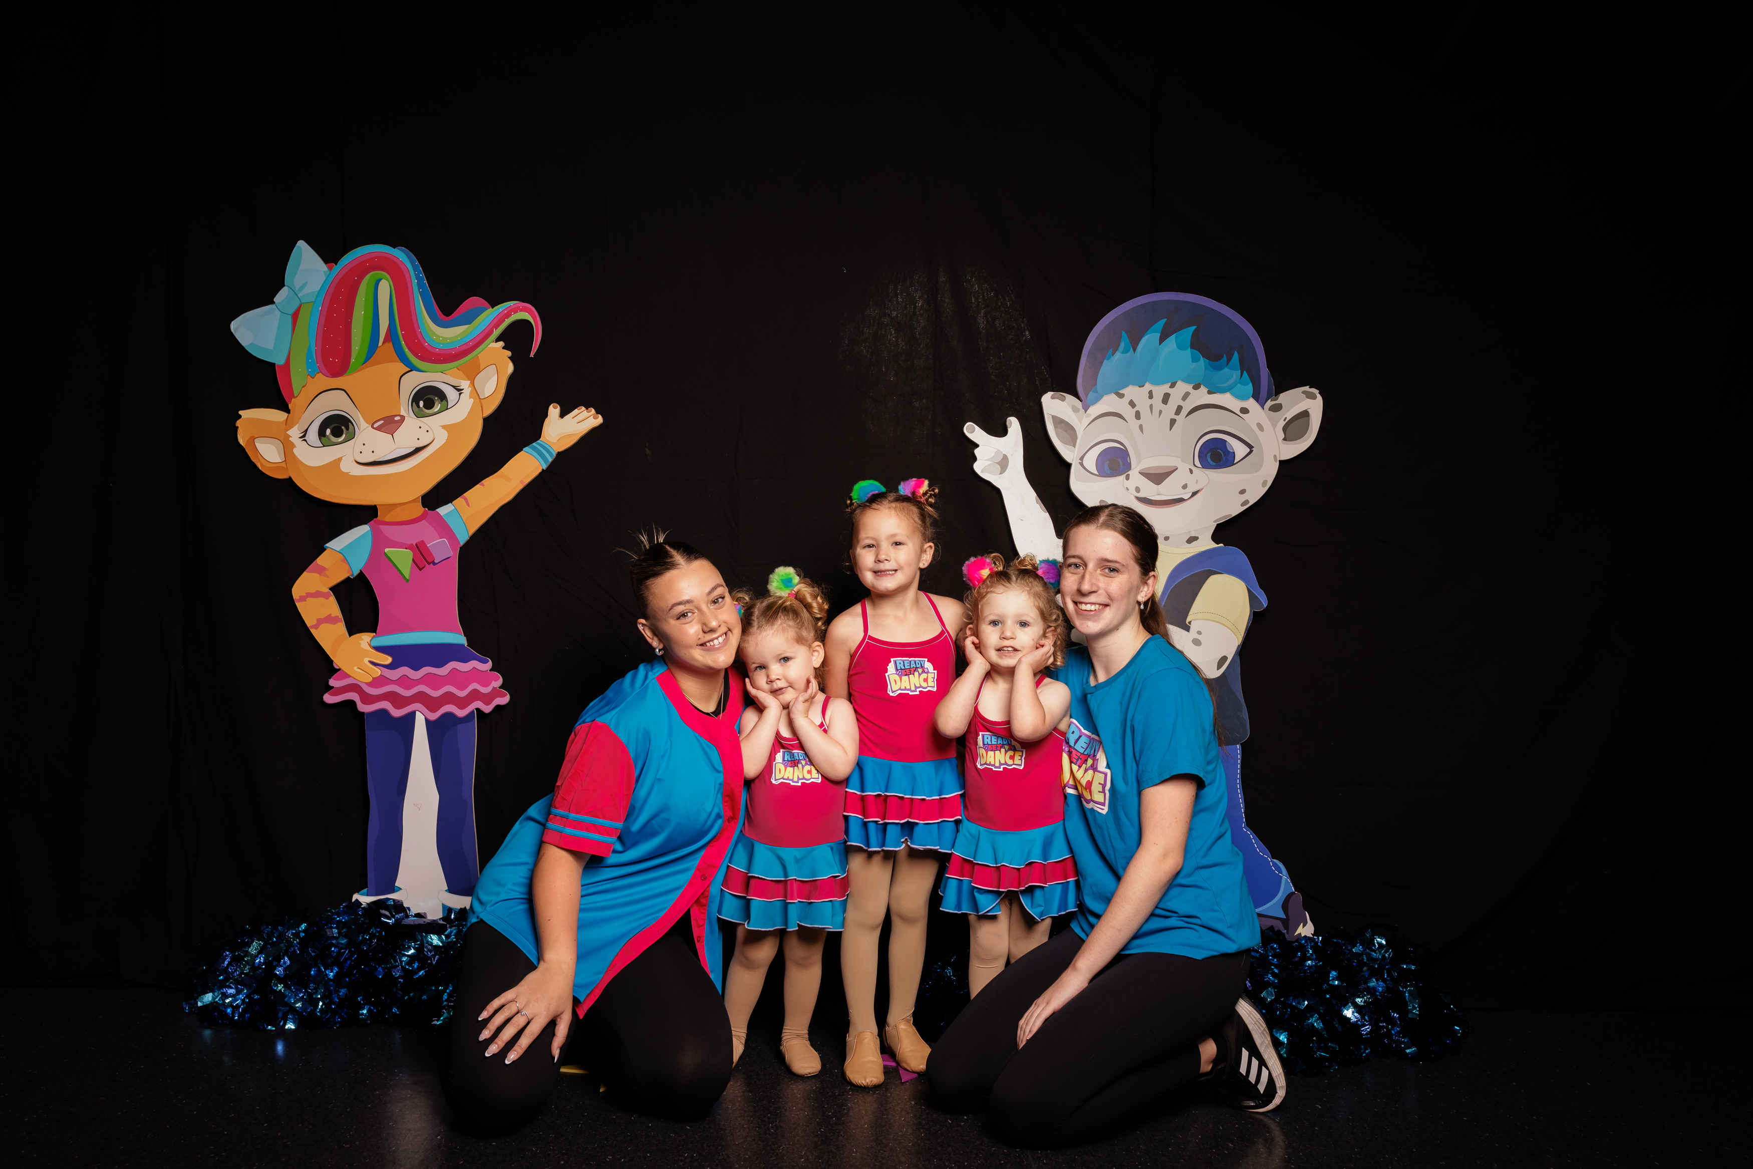
[[[847,845],[782,848],[731,841],[713,911],[749,929],[847,927]]]

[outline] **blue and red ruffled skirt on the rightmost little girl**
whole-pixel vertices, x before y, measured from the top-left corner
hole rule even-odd
[[[990,917],[1008,892],[1038,922],[1078,908],[1078,864],[1064,820],[1020,832],[962,820],[943,873],[943,908]]]

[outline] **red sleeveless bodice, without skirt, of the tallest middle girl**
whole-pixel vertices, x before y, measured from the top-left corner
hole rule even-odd
[[[864,636],[847,662],[847,692],[859,717],[859,754],[889,762],[955,759],[955,740],[938,734],[938,703],[955,682],[955,641],[936,601],[926,596],[938,636],[927,641],[882,641],[871,636],[869,610],[859,601]],[[852,811],[848,803],[848,815]]]

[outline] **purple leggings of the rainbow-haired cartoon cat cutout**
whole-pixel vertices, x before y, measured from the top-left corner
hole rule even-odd
[[[426,719],[426,743],[438,782],[438,862],[445,887],[472,896],[480,876],[475,854],[475,712]],[[366,896],[396,890],[401,864],[401,801],[414,759],[414,715],[365,713],[365,775],[372,820],[365,831]]]

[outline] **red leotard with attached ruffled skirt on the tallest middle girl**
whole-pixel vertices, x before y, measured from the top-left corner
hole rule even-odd
[[[926,596],[926,594],[920,594]],[[962,817],[955,740],[938,734],[938,703],[955,682],[955,641],[943,613],[938,636],[882,641],[871,636],[869,608],[859,601],[864,636],[847,664],[847,691],[859,717],[859,766],[847,780],[847,843],[868,850],[903,845],[948,852]]]

